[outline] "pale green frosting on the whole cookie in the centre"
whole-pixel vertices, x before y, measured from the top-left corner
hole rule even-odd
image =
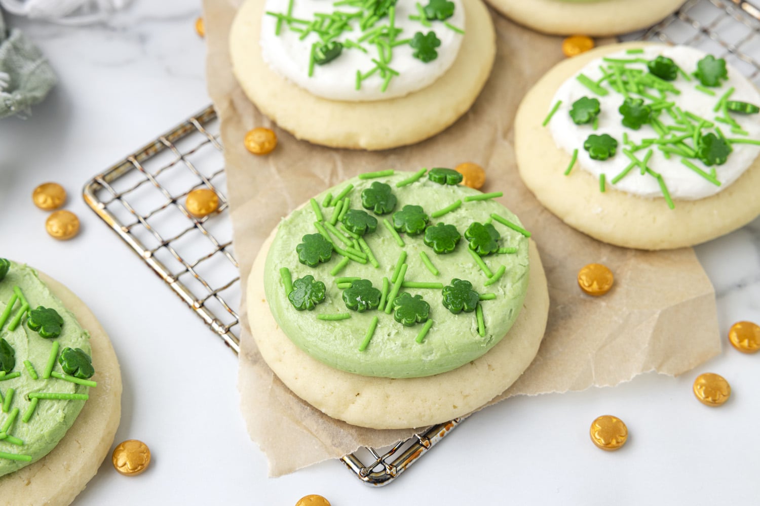
[[[426,213],[442,209],[463,200],[469,195],[480,194],[479,191],[464,186],[449,186],[436,184],[428,178],[422,178],[413,184],[398,188],[396,183],[408,178],[411,173],[396,172],[393,176],[382,178],[380,181],[389,184],[397,196],[396,209],[404,206],[422,206]],[[378,180],[373,180],[378,181]],[[361,193],[370,187],[373,181],[353,178],[315,196],[322,202],[327,193],[337,193],[347,183],[353,184],[353,191],[348,194],[352,209],[362,209]],[[325,209],[323,209],[325,211]],[[448,212],[440,218],[433,218],[428,225],[445,223],[454,225],[458,231],[464,232],[473,222],[487,222],[492,213],[503,216],[510,222],[520,224],[518,218],[504,206],[494,200],[479,200],[463,203],[458,209]],[[329,212],[323,212],[325,216]],[[378,217],[382,220],[382,217]],[[424,244],[423,235],[402,233],[405,246],[399,247],[385,226],[366,234],[369,249],[378,260],[379,268],[372,267],[370,262],[361,264],[351,261],[337,276],[356,277],[372,281],[372,286],[380,288],[382,278],[390,281],[396,262],[402,250],[407,253],[407,273],[405,281],[440,283],[443,286],[451,284],[454,278],[470,281],[473,290],[479,294],[496,294],[494,300],[480,302],[483,306],[483,318],[486,332],[483,337],[478,335],[476,313],[451,313],[443,305],[441,289],[435,288],[401,288],[401,294],[421,295],[429,303],[429,319],[433,320],[432,328],[423,339],[417,343],[416,336],[423,327],[403,325],[390,314],[382,310],[368,309],[362,313],[347,310],[343,300],[343,291],[337,288],[332,269],[343,260],[343,256],[334,253],[332,258],[316,266],[306,266],[299,262],[296,246],[306,234],[316,232],[315,215],[312,208],[303,206],[284,218],[277,229],[274,242],[269,250],[264,272],[264,291],[268,303],[280,328],[293,343],[311,357],[326,363],[328,366],[353,372],[363,376],[380,376],[388,378],[414,378],[432,376],[451,369],[456,369],[471,360],[485,354],[496,345],[508,332],[518,317],[527,291],[528,284],[528,241],[516,231],[494,222],[501,234],[500,247],[515,247],[517,253],[492,254],[484,256],[483,261],[492,272],[499,266],[505,266],[506,272],[489,286],[484,285],[488,280],[486,275],[474,261],[468,250],[467,241],[460,241],[452,253],[436,255],[431,247]],[[341,247],[340,243],[336,244]],[[440,275],[432,275],[420,259],[420,251],[430,257]],[[325,300],[312,311],[299,311],[287,299],[283,281],[280,278],[280,268],[287,267],[293,273],[293,278],[313,275],[325,282],[327,293]],[[391,287],[393,283],[390,283]],[[391,306],[392,307],[392,306]],[[325,321],[317,319],[320,314],[350,313],[350,319]],[[372,318],[378,317],[378,325],[372,335],[372,341],[366,350],[359,351]],[[517,336],[513,338],[518,338]]]

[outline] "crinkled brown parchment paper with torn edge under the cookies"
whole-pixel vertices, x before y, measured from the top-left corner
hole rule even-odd
[[[240,3],[204,0],[204,19],[208,87],[226,148],[243,294],[264,238],[280,218],[315,193],[364,171],[415,171],[476,162],[486,168],[483,190],[503,191],[501,202],[533,232],[551,298],[546,337],[536,360],[492,402],[517,394],[617,385],[653,369],[678,375],[720,353],[713,288],[692,249],[648,253],[602,244],[543,209],[518,177],[512,132],[515,111],[532,83],[563,58],[561,39],[530,32],[494,14],[498,50],[493,74],[473,108],[457,123],[415,146],[384,152],[328,149],[296,140],[272,125],[237,85],[227,36]],[[257,126],[274,127],[277,132],[279,145],[269,156],[252,156],[243,147],[245,132]],[[537,153],[536,163],[540,162]],[[590,262],[609,266],[616,276],[615,287],[604,297],[588,297],[578,288],[578,269]],[[389,445],[414,432],[349,426],[296,398],[261,360],[245,300],[241,317],[242,413],[252,439],[267,454],[271,475],[340,457],[359,446]]]

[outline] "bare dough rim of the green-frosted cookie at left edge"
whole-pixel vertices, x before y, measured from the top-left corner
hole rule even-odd
[[[45,457],[0,477],[0,504],[67,506],[84,490],[108,454],[121,416],[122,375],[108,335],[84,303],[65,286],[40,273],[82,328],[90,333],[98,385],[90,388],[74,425]]]

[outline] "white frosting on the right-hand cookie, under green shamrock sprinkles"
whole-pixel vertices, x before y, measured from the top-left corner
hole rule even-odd
[[[651,60],[658,55],[672,58],[680,68],[689,74],[696,70],[697,62],[705,57],[704,52],[686,46],[647,46],[642,54],[629,55],[625,51],[622,51],[606,55],[606,58],[645,58]],[[603,75],[600,71],[600,65],[603,64],[605,64],[605,62],[601,58],[597,58],[581,69],[578,74],[582,73],[587,77],[590,77],[592,80],[599,80]],[[641,68],[646,71],[645,64],[630,64],[629,67]],[[731,87],[735,88],[735,91],[731,94],[730,100],[740,100],[760,105],[760,93],[755,89],[755,86],[743,77],[736,68],[733,68],[730,65],[727,65],[727,68],[729,79],[724,81],[724,84],[719,88],[710,88],[710,90],[715,92],[715,96],[709,96],[699,90],[695,90],[695,85],[699,84],[699,81],[696,78],[692,77],[691,81],[686,81],[682,76],[679,76],[678,79],[672,82],[678,90],[680,90],[681,94],[674,95],[673,93],[668,93],[667,100],[670,102],[676,102],[676,105],[682,108],[685,112],[689,111],[701,118],[707,119],[708,121],[713,121],[716,126],[720,127],[720,130],[724,132],[727,138],[760,139],[760,115],[740,115],[730,113],[731,118],[736,120],[736,122],[749,133],[747,136],[731,134],[731,128],[729,125],[714,121],[716,114],[720,113],[713,112],[713,108],[718,99],[720,99],[720,96]],[[618,112],[618,108],[622,104],[624,97],[620,93],[616,93],[614,90],[610,90],[610,93],[606,96],[597,96],[586,86],[579,83],[578,80],[575,79],[575,75],[559,87],[559,90],[557,90],[557,93],[552,100],[552,105],[554,105],[557,100],[562,100],[562,105],[549,123],[549,128],[551,129],[557,146],[565,149],[568,153],[572,153],[574,149],[578,149],[578,165],[584,170],[591,172],[591,174],[594,174],[597,178],[600,174],[606,174],[606,184],[608,187],[614,187],[616,190],[622,190],[638,196],[662,196],[662,191],[657,183],[657,179],[649,174],[641,175],[638,168],[634,168],[630,171],[625,178],[622,178],[617,184],[610,184],[610,180],[622,172],[631,162],[630,159],[622,153],[622,149],[627,147],[622,143],[623,133],[628,134],[629,140],[635,144],[640,144],[642,139],[657,138],[658,136],[649,124],[642,125],[639,130],[624,127],[621,123],[622,115]],[[657,93],[654,94],[657,95]],[[570,118],[569,111],[573,102],[580,99],[582,96],[598,99],[600,102],[601,113],[599,115],[599,125],[596,131],[594,131],[594,127],[591,124],[576,125],[573,123],[572,118]],[[636,95],[632,96],[634,98],[641,98]],[[649,101],[645,100],[645,102],[648,103]],[[666,125],[675,124],[675,121],[673,121],[673,119],[670,118],[670,115],[667,115],[665,112],[660,115],[659,119]],[[713,130],[702,130],[702,134],[706,134],[708,131]],[[610,134],[610,136],[614,137],[615,140],[618,141],[616,155],[605,161],[591,159],[591,157],[588,156],[588,152],[583,148],[584,141],[590,134]],[[674,132],[674,134],[677,135],[679,133]],[[686,143],[689,146],[692,145],[691,141],[687,141]],[[674,199],[701,199],[706,196],[714,195],[720,190],[724,190],[724,188],[728,187],[733,181],[736,181],[736,179],[738,179],[739,176],[752,165],[752,162],[755,161],[758,155],[760,155],[760,146],[754,146],[751,144],[734,144],[732,147],[733,152],[728,156],[726,163],[723,165],[713,165],[716,171],[716,178],[721,183],[720,187],[711,184],[699,174],[696,174],[685,165],[682,165],[681,156],[672,155],[670,159],[665,159],[663,152],[657,149],[656,146],[653,146],[653,154],[648,162],[648,167],[651,168],[651,170],[662,174],[663,180],[670,192],[670,196]],[[638,159],[643,159],[644,154],[647,151],[648,149],[640,149],[635,152],[635,156]],[[690,159],[689,161],[708,174],[710,173],[711,168],[705,167],[700,160]]]

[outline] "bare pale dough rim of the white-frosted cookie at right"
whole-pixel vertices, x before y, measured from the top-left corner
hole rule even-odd
[[[750,158],[748,168],[736,181],[724,184],[719,193],[695,200],[674,200],[674,208],[669,209],[662,195],[638,196],[609,186],[602,193],[599,179],[590,171],[581,170],[578,164],[568,175],[564,175],[572,156],[558,146],[550,125],[542,126],[547,112],[553,107],[557,90],[590,61],[613,52],[652,47],[654,45],[642,42],[604,46],[556,65],[527,93],[518,108],[515,118],[515,153],[526,186],[549,211],[573,228],[622,247],[644,250],[689,247],[727,234],[760,215],[760,199],[756,196],[757,188],[760,187],[760,157]],[[633,54],[631,58],[635,56]],[[729,69],[729,74],[732,72],[737,71]],[[679,86],[686,84],[681,82]],[[688,86],[695,86],[693,78]],[[715,90],[716,98],[723,93],[723,90]],[[587,95],[594,96],[591,92]],[[618,112],[612,113],[616,115],[616,121],[619,121]],[[564,109],[556,114],[567,115],[568,112]],[[756,115],[752,118],[756,118]],[[726,131],[730,128],[720,125]],[[643,130],[642,127],[641,131]],[[638,131],[630,130],[631,135]],[[603,134],[601,124],[598,132],[590,133]],[[727,137],[732,135],[739,137],[736,134]],[[738,146],[737,144],[736,147]],[[621,151],[625,147],[624,143],[619,142],[616,156],[622,157]],[[579,151],[584,150],[580,147]],[[643,156],[643,150],[637,154]],[[676,158],[679,159],[680,156]],[[722,174],[721,167],[723,165],[714,166],[719,178]],[[682,170],[689,173],[685,167]],[[610,173],[610,179],[613,174],[615,173]],[[628,177],[630,176],[626,176]],[[633,177],[638,177],[638,174]]]

